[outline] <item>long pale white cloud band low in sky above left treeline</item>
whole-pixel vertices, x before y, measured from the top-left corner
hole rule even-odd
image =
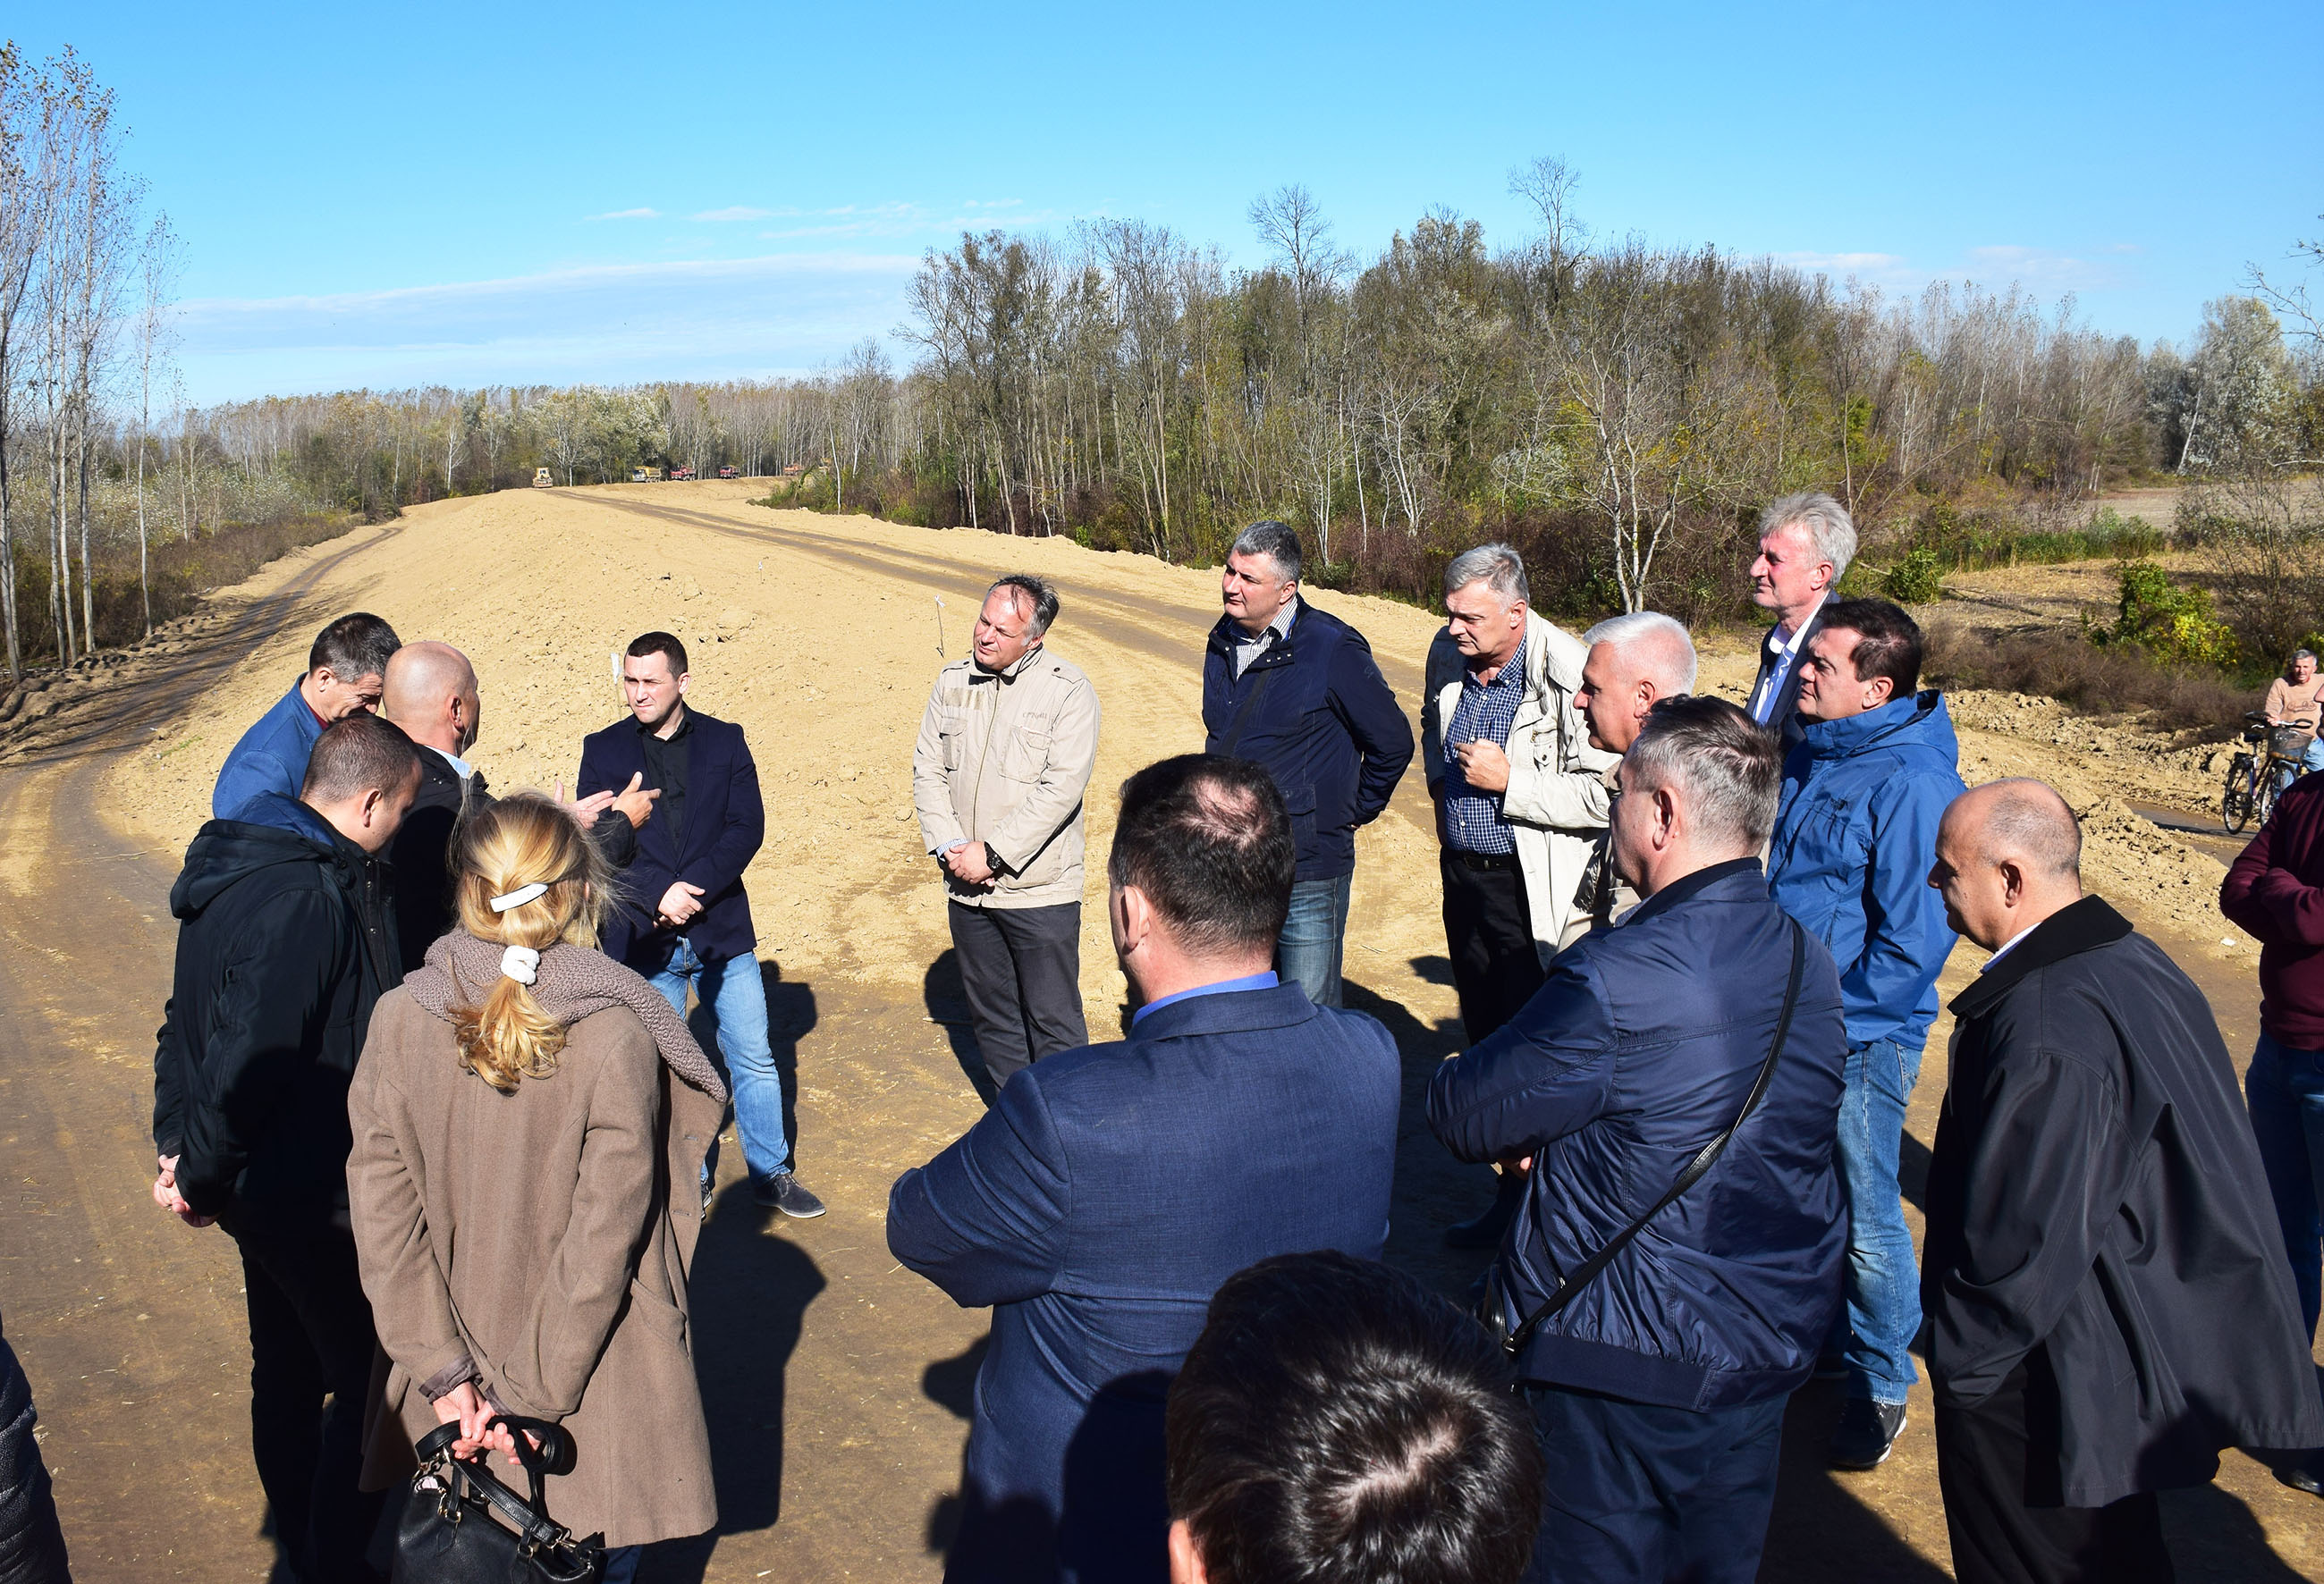
[[[839,358],[904,316],[918,260],[783,253],[181,304],[195,402],[425,383],[734,379]]]

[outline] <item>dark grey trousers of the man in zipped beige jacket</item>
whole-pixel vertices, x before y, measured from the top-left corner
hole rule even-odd
[[[969,1024],[992,1082],[1090,1043],[1081,1020],[1081,903],[967,908],[946,903]]]

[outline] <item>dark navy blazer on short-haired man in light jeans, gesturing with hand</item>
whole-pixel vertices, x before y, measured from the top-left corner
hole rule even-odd
[[[690,713],[695,729],[686,739],[686,848],[681,852],[672,841],[669,820],[660,813],[646,820],[637,831],[637,857],[623,873],[623,894],[604,927],[604,955],[639,973],[667,966],[679,936],[704,962],[744,957],[758,945],[751,897],[741,890],[741,871],[767,838],[758,764],[741,741],[741,727],[702,711]],[[574,797],[621,792],[644,769],[646,746],[637,720],[625,715],[581,739]],[[702,913],[676,931],[653,922],[653,906],[672,880],[702,887]]]

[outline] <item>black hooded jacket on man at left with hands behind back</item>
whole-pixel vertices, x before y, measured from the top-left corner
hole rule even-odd
[[[346,1226],[346,1085],[404,980],[383,864],[279,792],[211,820],[170,890],[153,1145],[228,1231]]]

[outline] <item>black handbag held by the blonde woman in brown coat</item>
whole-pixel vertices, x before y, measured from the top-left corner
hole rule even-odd
[[[544,1482],[572,1473],[574,1440],[546,1419],[502,1414],[493,1426],[516,1433],[532,1498],[504,1486],[486,1454],[456,1459],[458,1424],[439,1424],[414,1442],[421,1473],[395,1526],[390,1584],[597,1584],[604,1535],[576,1540],[548,1517]],[[525,1440],[525,1435],[532,1440]],[[539,1442],[539,1445],[535,1445]]]

